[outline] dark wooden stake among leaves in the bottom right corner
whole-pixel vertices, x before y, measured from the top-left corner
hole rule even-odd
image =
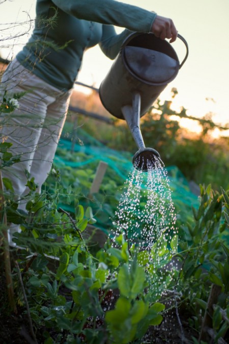
[[[213,305],[217,303],[220,293],[221,287],[219,285],[212,284],[202,323],[201,333],[199,334],[199,342],[201,342],[201,340],[208,341],[210,339],[208,329],[212,329],[212,316],[214,311]]]

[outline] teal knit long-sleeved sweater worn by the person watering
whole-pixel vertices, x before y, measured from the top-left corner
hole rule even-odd
[[[115,0],[37,0],[35,29],[16,58],[48,84],[72,88],[83,52],[99,43],[114,59],[130,31],[150,32],[155,12]],[[126,28],[116,34],[115,28]]]

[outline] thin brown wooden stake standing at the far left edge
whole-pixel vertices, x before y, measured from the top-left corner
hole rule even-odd
[[[2,214],[1,214],[2,213]],[[4,250],[4,264],[5,264],[5,274],[6,274],[6,286],[8,290],[8,298],[11,309],[14,313],[17,313],[17,307],[14,298],[13,280],[11,275],[11,263],[10,263],[10,248],[8,241],[8,229],[7,229],[7,216],[4,210],[4,194],[3,194],[3,179],[0,169],[0,214],[2,233],[1,233],[1,243],[3,243]]]

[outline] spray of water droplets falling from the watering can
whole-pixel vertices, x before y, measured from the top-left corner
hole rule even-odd
[[[161,299],[173,278],[171,263],[177,242],[176,214],[167,171],[160,159],[147,161],[148,172],[133,169],[113,219],[113,245],[122,234],[130,251],[145,267],[155,301]]]

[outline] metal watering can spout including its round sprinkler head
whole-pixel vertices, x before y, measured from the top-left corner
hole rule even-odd
[[[133,166],[138,170],[147,172],[150,168],[156,167],[156,162],[157,159],[160,159],[160,155],[153,148],[146,148],[145,146],[140,131],[140,102],[140,94],[134,92],[132,106],[123,106],[122,114],[127,121],[128,127],[138,147],[138,151],[133,157]]]

